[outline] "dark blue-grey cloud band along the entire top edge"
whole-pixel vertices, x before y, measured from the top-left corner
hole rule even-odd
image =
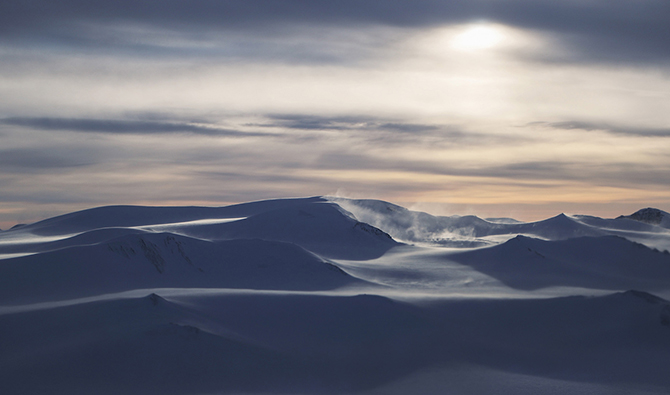
[[[550,48],[544,60],[670,61],[667,0],[5,1],[0,5],[0,38],[114,46],[119,44],[115,42],[118,37],[103,39],[91,34],[96,25],[135,24],[180,31],[197,39],[212,31],[271,36],[278,29],[301,25],[420,28],[476,20],[553,37],[559,47]]]

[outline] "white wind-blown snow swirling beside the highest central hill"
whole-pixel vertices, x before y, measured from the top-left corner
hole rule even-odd
[[[485,236],[491,224],[475,216],[436,217],[380,200],[354,200],[329,196],[358,221],[366,222],[394,239],[412,244],[445,247],[478,247],[488,244]]]

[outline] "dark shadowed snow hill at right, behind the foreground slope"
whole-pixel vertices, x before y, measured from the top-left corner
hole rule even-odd
[[[517,236],[450,258],[520,289],[575,286],[662,291],[670,279],[667,251],[661,253],[618,236],[559,241]]]

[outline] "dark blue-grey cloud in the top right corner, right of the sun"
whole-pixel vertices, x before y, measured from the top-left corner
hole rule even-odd
[[[495,20],[551,37],[559,48],[550,50],[546,60],[665,65],[670,61],[670,3],[665,0],[522,0],[489,5]]]

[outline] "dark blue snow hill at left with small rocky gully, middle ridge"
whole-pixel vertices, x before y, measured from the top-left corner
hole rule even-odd
[[[143,288],[320,290],[363,283],[295,245],[129,235],[1,261],[0,301],[38,303]]]

